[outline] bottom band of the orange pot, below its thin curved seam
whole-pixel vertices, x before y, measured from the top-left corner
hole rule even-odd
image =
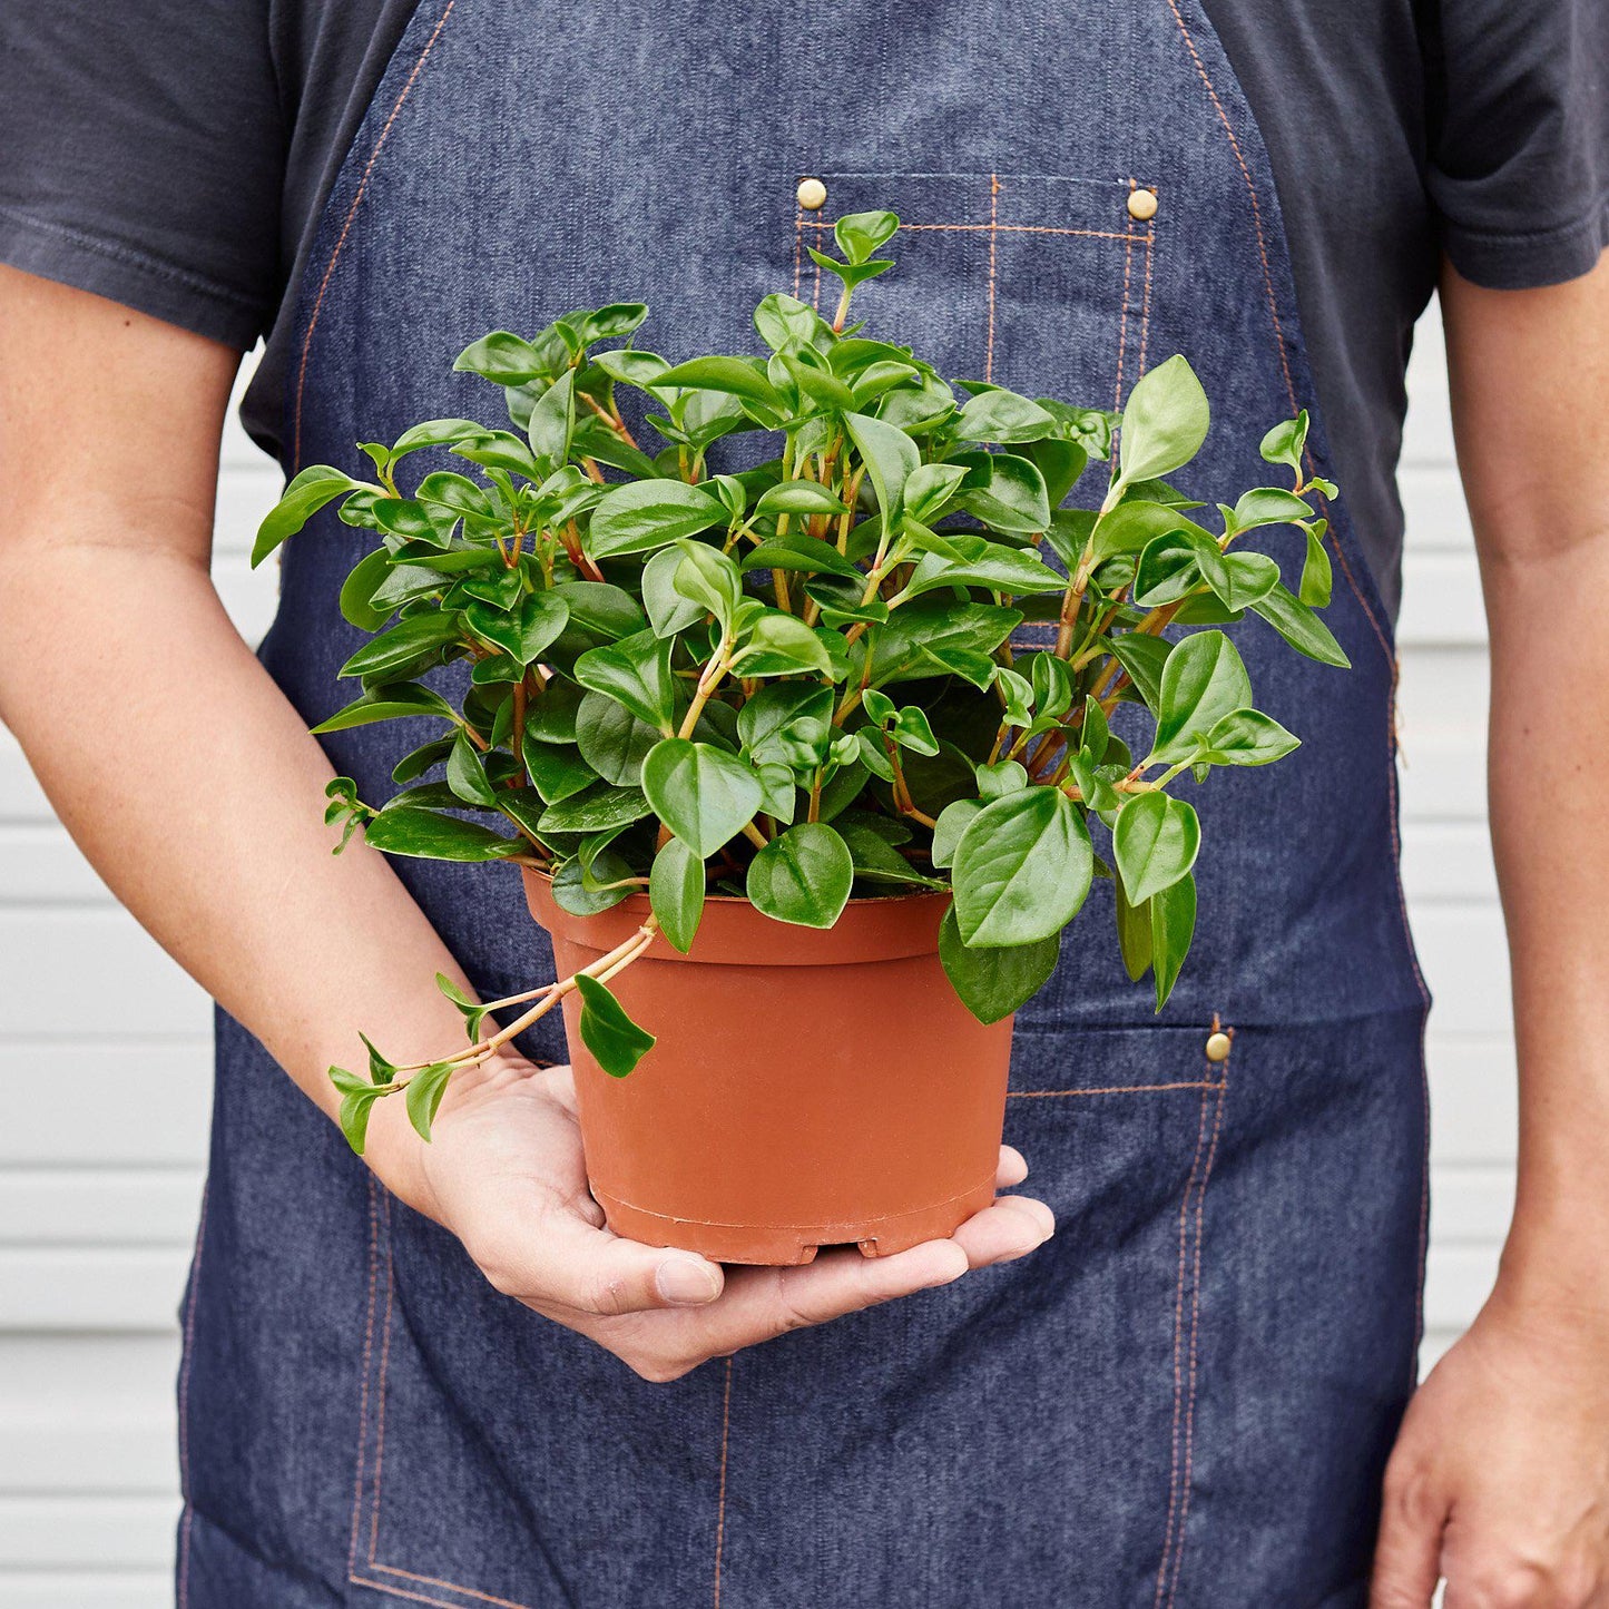
[[[824,1245],[856,1245],[862,1257],[891,1257],[924,1241],[946,1241],[994,1200],[994,1179],[916,1212],[813,1224],[702,1223],[632,1207],[597,1184],[592,1195],[603,1208],[608,1226],[628,1241],[697,1252],[713,1263],[792,1268],[813,1263]]]

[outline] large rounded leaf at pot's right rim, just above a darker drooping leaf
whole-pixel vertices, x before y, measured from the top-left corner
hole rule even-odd
[[[1051,938],[1078,914],[1093,875],[1089,829],[1065,793],[1007,793],[985,804],[956,845],[961,936],[980,949]]]

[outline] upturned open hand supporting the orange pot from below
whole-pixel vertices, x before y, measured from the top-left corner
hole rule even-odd
[[[587,1189],[568,1067],[510,1057],[460,1073],[430,1144],[401,1107],[383,1101],[370,1121],[380,1178],[451,1229],[497,1290],[595,1340],[645,1381],[674,1381],[790,1329],[1025,1257],[1056,1228],[1043,1202],[1002,1195],[951,1239],[891,1257],[845,1247],[798,1268],[722,1268],[605,1226]],[[1002,1146],[998,1187],[1027,1171]]]

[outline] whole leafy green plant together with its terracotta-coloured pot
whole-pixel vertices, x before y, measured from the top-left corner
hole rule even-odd
[[[1200,843],[1170,785],[1297,745],[1215,628],[1250,610],[1347,665],[1315,613],[1310,497],[1335,489],[1305,473],[1298,415],[1263,442],[1289,489],[1192,518],[1167,479],[1208,425],[1183,357],[1121,418],[957,394],[848,325],[896,228],[842,219],[842,259],[813,253],[833,317],[766,296],[761,356],[673,365],[629,344],[642,306],[488,335],[455,367],[500,388],[513,430],[365,442],[368,478],[307,468],[264,521],[254,562],[336,500],[375,536],[341,592],[372,634],[343,668],[364,690],[314,730],[439,722],[389,801],[331,784],[341,845],[360,827],[391,854],[513,862],[558,961],[505,1001],[438,980],[455,1054],[396,1067],[365,1039],[367,1076],[331,1068],[356,1149],[396,1094],[428,1139],[457,1068],[562,1007],[621,1234],[730,1261],[890,1252],[990,1200],[1012,1012],[1094,877],[1130,975],[1167,999]],[[656,439],[628,425],[632,393]],[[716,473],[718,444],[750,467]],[[1067,507],[1089,460],[1097,507]],[[1308,534],[1294,591],[1253,545],[1278,525]],[[1023,623],[1043,647],[1014,648]],[[454,697],[422,679],[447,665]],[[1121,705],[1149,711],[1139,747]]]

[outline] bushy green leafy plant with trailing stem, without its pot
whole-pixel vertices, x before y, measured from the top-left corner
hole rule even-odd
[[[1191,518],[1204,504],[1165,479],[1208,425],[1183,357],[1139,380],[1121,417],[980,381],[957,396],[846,323],[896,228],[890,212],[842,219],[842,261],[813,253],[843,286],[833,319],[766,296],[764,356],[671,365],[621,344],[642,306],[488,335],[455,368],[502,391],[513,430],[438,418],[364,442],[372,478],[307,468],[264,521],[254,563],[335,500],[377,537],[341,591],[373,634],[343,668],[364,692],[315,730],[439,724],[385,804],[331,784],[341,845],[360,825],[391,854],[534,867],[576,914],[644,890],[652,911],[584,973],[507,1001],[438,980],[471,1043],[402,1068],[370,1046],[367,1078],[331,1068],[354,1147],[397,1091],[428,1138],[452,1072],[573,990],[600,1065],[631,1072],[653,1039],[608,980],[656,935],[687,951],[711,891],[808,927],[856,895],[949,891],[943,964],[991,1022],[1047,980],[1091,880],[1110,877],[1128,972],[1154,973],[1158,1009],[1168,998],[1200,845],[1170,785],[1297,745],[1212,628],[1250,610],[1347,665],[1315,613],[1331,571],[1310,497],[1335,488],[1303,470],[1303,414],[1263,441],[1289,489],[1218,504],[1216,531]],[[631,393],[663,446],[628,425]],[[750,467],[716,473],[718,444]],[[425,454],[463,470],[404,491]],[[1091,459],[1110,463],[1099,507],[1067,507]],[[1295,591],[1252,545],[1282,525],[1307,533]],[[1043,644],[1025,647],[1033,623]],[[422,677],[452,661],[468,676],[449,698]],[[1149,711],[1149,742],[1113,730],[1125,705]]]

